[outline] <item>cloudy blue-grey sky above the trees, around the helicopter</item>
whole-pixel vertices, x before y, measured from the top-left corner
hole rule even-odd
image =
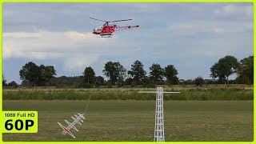
[[[90,19],[141,26],[122,30],[112,38],[92,34],[104,24]],[[19,70],[27,62],[54,66],[59,76],[82,75],[91,66],[104,76],[106,62],[120,62],[130,70],[134,61],[149,67],[174,65],[178,78],[210,78],[219,58],[253,55],[251,2],[4,2],[2,61],[7,82],[19,84]]]

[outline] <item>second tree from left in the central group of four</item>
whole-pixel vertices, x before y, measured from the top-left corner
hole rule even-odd
[[[130,74],[136,84],[139,84],[142,83],[143,78],[146,77],[146,70],[144,70],[142,62],[137,60],[133,65],[131,65],[128,74]]]

